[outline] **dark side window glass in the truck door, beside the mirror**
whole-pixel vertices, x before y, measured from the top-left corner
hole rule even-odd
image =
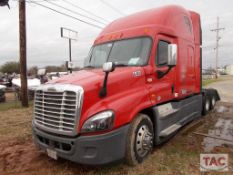
[[[155,61],[157,66],[167,65],[168,45],[169,43],[166,41],[159,41],[158,46],[157,46],[157,55],[156,55],[156,61]]]

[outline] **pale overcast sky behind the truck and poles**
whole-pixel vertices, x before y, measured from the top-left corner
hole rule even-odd
[[[43,0],[33,0],[59,11],[69,13]],[[78,13],[90,14],[70,6],[63,0],[48,0],[62,5]],[[203,65],[215,66],[216,33],[210,32],[216,28],[216,18],[220,17],[220,27],[225,27],[220,32],[219,63],[221,66],[233,64],[233,1],[232,0],[68,0],[81,8],[112,21],[122,15],[159,7],[167,4],[178,4],[187,9],[201,14],[203,29]],[[104,2],[116,9],[110,8]],[[10,0],[11,9],[0,7],[0,65],[6,61],[19,59],[19,28],[18,28],[18,3]],[[77,14],[69,13],[85,21],[95,23]],[[101,19],[98,19],[103,21]],[[96,25],[102,25],[95,23]],[[103,26],[103,25],[102,25]],[[83,24],[77,20],[64,17],[35,4],[27,3],[27,59],[28,67],[36,65],[61,65],[68,59],[68,41],[60,37],[60,27],[67,27],[78,31],[78,41],[72,43],[72,57],[76,65],[83,65],[83,59],[101,31],[98,28]]]

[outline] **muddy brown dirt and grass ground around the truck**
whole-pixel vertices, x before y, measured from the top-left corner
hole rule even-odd
[[[54,161],[40,152],[31,138],[32,108],[0,111],[0,175],[134,175],[200,174],[200,153],[228,153],[233,173],[233,142],[193,134],[209,134],[233,141],[233,104],[219,102],[216,109],[186,127],[167,143],[154,148],[148,159],[136,167],[124,163],[104,167]],[[221,173],[211,173],[221,174]]]

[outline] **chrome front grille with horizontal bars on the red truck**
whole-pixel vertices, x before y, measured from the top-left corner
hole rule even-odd
[[[36,126],[50,132],[76,134],[82,92],[81,87],[74,85],[45,85],[38,88],[34,99]]]

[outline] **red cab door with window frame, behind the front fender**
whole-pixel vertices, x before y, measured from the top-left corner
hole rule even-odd
[[[169,69],[167,65],[168,45],[171,43],[174,43],[173,38],[158,35],[154,57],[154,81],[150,88],[152,103],[163,103],[174,98],[175,67],[163,77],[158,77],[159,72],[166,72]]]

